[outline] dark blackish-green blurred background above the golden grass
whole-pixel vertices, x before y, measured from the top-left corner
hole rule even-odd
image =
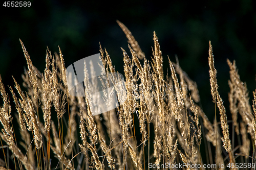
[[[66,67],[84,57],[99,53],[99,42],[108,50],[116,70],[123,72],[122,51],[127,52],[127,39],[116,19],[130,29],[145,53],[152,56],[153,32],[159,38],[164,57],[175,61],[197,82],[201,106],[213,122],[214,103],[208,74],[209,40],[212,43],[219,92],[229,114],[226,59],[236,60],[240,78],[247,82],[250,103],[255,90],[256,74],[256,6],[255,1],[168,1],[161,3],[120,1],[31,1],[31,7],[3,7],[0,19],[0,74],[6,86],[13,86],[12,75],[22,84],[26,67],[24,42],[32,63],[42,72],[47,46],[64,55]],[[130,54],[128,52],[128,54]],[[131,55],[130,55],[131,56]],[[8,90],[7,90],[8,91]],[[11,100],[12,101],[12,100]],[[14,111],[14,107],[13,107]]]

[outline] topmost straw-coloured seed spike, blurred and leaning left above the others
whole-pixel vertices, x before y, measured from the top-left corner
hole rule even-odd
[[[122,22],[120,22],[119,20],[116,20],[118,25],[121,27],[121,29],[123,30],[123,32],[125,33],[128,42],[131,44],[133,50],[136,52],[136,54],[138,55],[138,58],[140,60],[144,59],[145,55],[144,53],[141,51],[141,48],[138,44],[138,42],[135,40],[134,36],[132,35],[132,33],[127,29],[127,27],[125,27],[123,25]]]

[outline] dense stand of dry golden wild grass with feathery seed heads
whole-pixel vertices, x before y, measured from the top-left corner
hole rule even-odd
[[[209,42],[209,86],[215,112],[211,122],[199,106],[196,82],[181,69],[178,59],[176,63],[168,60],[170,75],[164,76],[156,33],[153,57],[147,60],[131,32],[117,22],[129,39],[130,52],[121,48],[125,86],[118,84],[114,89],[120,105],[99,115],[93,115],[89,107],[97,101],[91,94],[94,86],[89,83],[86,64],[86,96],[72,96],[61,50],[52,55],[47,49],[46,67],[40,72],[20,40],[28,65],[22,75],[26,91],[13,78],[10,96],[0,77],[0,169],[181,169],[175,165],[182,163],[190,164],[182,169],[239,169],[241,164],[244,169],[254,169],[256,90],[250,106],[235,61],[227,60],[232,115],[228,118]],[[106,89],[110,80],[116,84],[108,75],[117,70],[101,45],[100,57],[105,72],[100,80]],[[104,93],[106,106],[110,106],[113,92]]]

